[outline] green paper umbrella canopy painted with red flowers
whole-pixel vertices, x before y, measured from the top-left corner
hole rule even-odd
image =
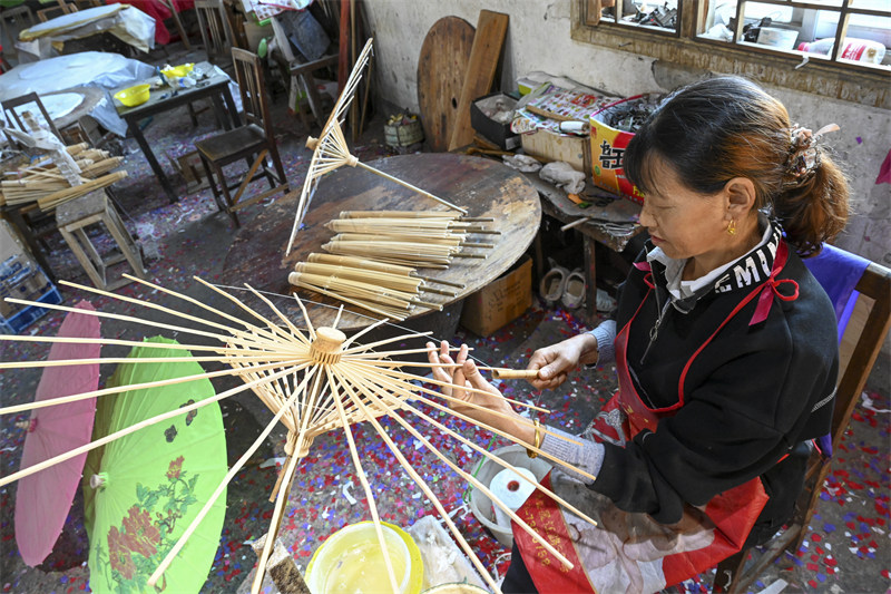
[[[174,340],[156,337],[147,343]],[[129,358],[182,357],[184,351],[136,347]],[[123,363],[108,386],[157,382],[203,373],[194,361]],[[206,378],[135,389],[99,399],[94,440],[156,415],[214,396]],[[94,592],[198,592],[219,545],[225,497],[164,574],[157,588],[148,576],[170,551],[226,475],[226,438],[219,405],[212,403],[111,441],[87,458],[85,516],[90,539]]]

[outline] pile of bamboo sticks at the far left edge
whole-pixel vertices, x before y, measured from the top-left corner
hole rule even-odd
[[[127,177],[126,172],[108,173],[120,166],[124,157],[112,157],[107,150],[88,148],[81,143],[66,147],[80,168],[80,184],[71,186],[49,158],[17,172],[8,172],[11,179],[0,182],[0,204],[20,205],[37,203],[42,211],[109,186]]]

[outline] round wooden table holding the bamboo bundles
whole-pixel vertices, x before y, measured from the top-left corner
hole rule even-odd
[[[420,274],[464,285],[462,290],[456,289],[457,296],[441,301],[443,306],[462,300],[501,275],[526,252],[538,232],[541,220],[538,192],[521,174],[501,163],[450,153],[423,153],[388,157],[368,165],[467,208],[468,216],[495,220],[487,225],[498,230],[500,235],[473,236],[473,241],[495,244],[491,250],[473,250],[487,253],[484,260],[456,257],[448,270],[419,269]],[[341,167],[320,181],[295,247],[285,256],[298,198],[298,191],[278,198],[238,231],[224,262],[222,283],[238,286],[248,283],[274,293],[292,291],[287,274],[297,262],[305,262],[310,253],[322,252],[322,244],[333,236],[324,225],[337,218],[341,211],[446,208],[371,172]],[[330,305],[339,305],[339,301],[304,290],[298,294],[322,303],[307,303],[313,324],[333,323],[336,309]],[[370,312],[356,315],[347,309],[362,311],[346,305],[337,323],[342,330],[361,329],[374,321]],[[428,312],[418,309],[411,318]]]

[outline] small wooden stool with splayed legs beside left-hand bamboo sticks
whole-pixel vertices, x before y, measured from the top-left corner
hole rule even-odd
[[[90,243],[85,228],[88,225],[104,223],[108,232],[118,244],[120,253],[109,257],[102,257],[96,247]],[[62,233],[62,237],[68,242],[68,246],[75,253],[78,262],[87,271],[92,283],[98,289],[114,291],[133,281],[129,279],[118,279],[108,282],[106,273],[112,264],[126,260],[133,267],[134,273],[140,277],[146,277],[143,267],[143,260],[139,257],[139,247],[134,243],[129,232],[121,223],[115,206],[109,202],[105,192],[98,189],[85,196],[60,204],[56,207],[56,225]]]

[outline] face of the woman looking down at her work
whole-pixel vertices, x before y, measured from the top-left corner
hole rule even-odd
[[[728,240],[724,191],[698,194],[683,185],[662,160],[654,167],[658,187],[647,193],[640,211],[640,224],[649,232],[653,244],[676,260],[707,262],[718,256]]]

